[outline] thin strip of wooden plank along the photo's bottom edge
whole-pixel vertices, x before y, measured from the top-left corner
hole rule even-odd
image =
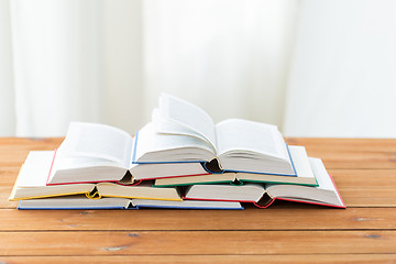
[[[277,264],[372,264],[395,263],[396,254],[342,254],[342,255],[107,255],[107,256],[3,256],[1,263],[277,263]]]

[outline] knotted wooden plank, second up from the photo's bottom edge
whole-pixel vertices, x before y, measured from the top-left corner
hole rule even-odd
[[[0,255],[394,254],[396,231],[4,232]]]

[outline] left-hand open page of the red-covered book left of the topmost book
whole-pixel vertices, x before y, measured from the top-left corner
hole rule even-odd
[[[132,136],[106,124],[72,122],[57,155],[105,158],[129,168]]]

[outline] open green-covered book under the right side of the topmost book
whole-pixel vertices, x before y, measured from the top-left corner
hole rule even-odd
[[[155,179],[156,187],[170,187],[197,184],[234,184],[244,183],[273,183],[273,184],[297,184],[317,186],[312,168],[309,164],[308,155],[304,146],[289,146],[290,156],[294,161],[297,177],[285,177],[271,174],[252,173],[223,173],[196,176],[180,176]]]

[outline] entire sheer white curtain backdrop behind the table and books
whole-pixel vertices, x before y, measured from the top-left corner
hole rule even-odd
[[[395,136],[394,6],[0,0],[0,136],[134,133],[161,91],[285,135]]]

